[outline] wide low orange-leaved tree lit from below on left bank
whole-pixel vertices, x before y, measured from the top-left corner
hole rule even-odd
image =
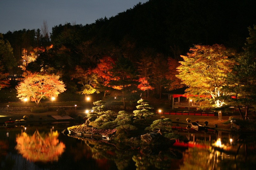
[[[38,105],[41,99],[57,97],[66,90],[60,76],[55,74],[25,72],[23,76],[24,80],[16,86],[21,100],[31,98]]]

